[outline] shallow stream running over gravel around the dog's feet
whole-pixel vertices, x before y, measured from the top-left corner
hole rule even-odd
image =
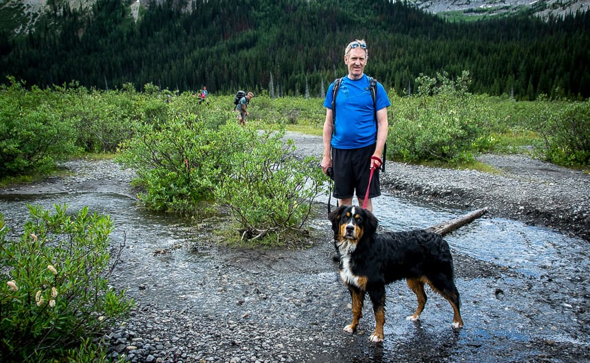
[[[214,219],[154,215],[132,198],[108,193],[2,195],[0,213],[15,237],[27,217],[26,204],[53,209],[63,203],[72,213],[88,206],[110,215],[113,246],[126,239],[111,283],[128,288],[140,303],[222,319],[248,315],[253,325],[322,329],[338,351],[327,347],[325,361],[569,362],[572,352],[590,357],[587,242],[550,229],[484,216],[445,236],[456,260],[465,327],[451,329],[451,308],[432,292],[421,322],[406,321],[415,298],[405,283],[394,283],[388,288],[386,342],[375,347],[366,341],[374,327],[369,301],[362,342],[353,343],[341,331],[351,317],[350,297],[330,260],[329,242],[301,250],[217,247],[209,232]],[[392,196],[374,200],[374,209],[381,226],[393,231],[426,228],[469,212]],[[329,230],[327,220],[313,224],[312,234]],[[351,344],[349,354],[342,353]]]

